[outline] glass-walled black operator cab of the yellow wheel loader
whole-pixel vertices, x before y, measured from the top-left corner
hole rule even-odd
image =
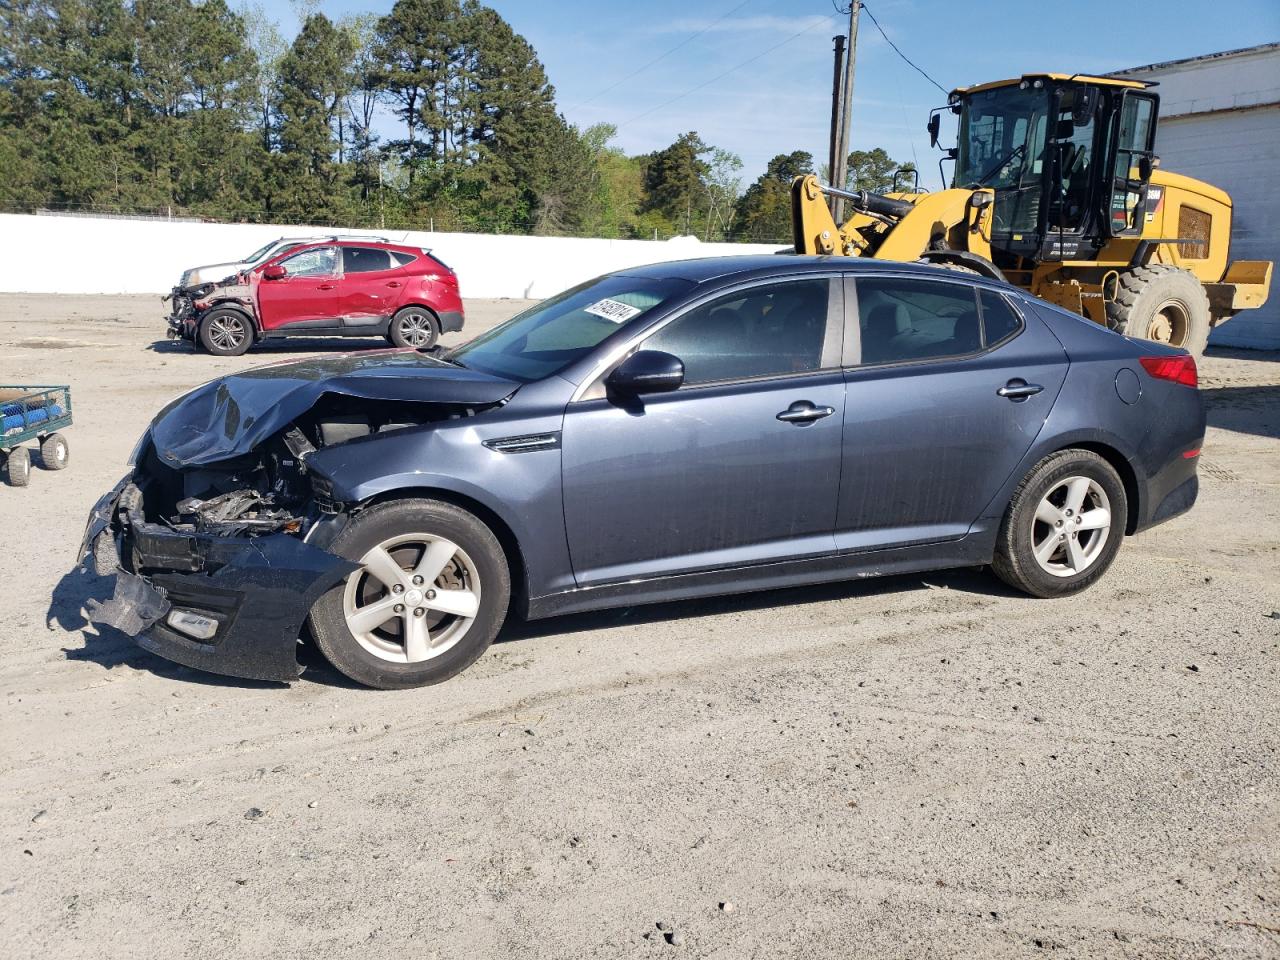
[[[998,266],[1093,260],[1112,237],[1142,233],[1158,104],[1146,86],[1039,74],[951,95],[952,186],[995,189]]]

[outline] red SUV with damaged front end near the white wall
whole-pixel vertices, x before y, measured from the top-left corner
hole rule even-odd
[[[269,337],[385,337],[431,347],[462,329],[458,278],[420,247],[316,241],[216,287],[169,319],[169,335],[230,357]]]

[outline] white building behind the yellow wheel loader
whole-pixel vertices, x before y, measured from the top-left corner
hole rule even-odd
[[[1114,76],[1160,84],[1160,165],[1231,196],[1231,260],[1280,264],[1280,44]],[[1210,343],[1280,348],[1280,275],[1265,307],[1236,314]]]

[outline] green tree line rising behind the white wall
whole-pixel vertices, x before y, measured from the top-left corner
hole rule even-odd
[[[627,156],[477,0],[311,12],[292,42],[225,0],[0,0],[0,29],[3,210],[785,241],[813,169],[780,155],[744,191],[695,132]]]

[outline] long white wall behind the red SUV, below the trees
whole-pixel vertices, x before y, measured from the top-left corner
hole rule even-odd
[[[0,292],[166,293],[187,268],[238,260],[276,237],[333,233],[320,227],[0,214]],[[465,297],[543,298],[626,266],[780,248],[777,243],[699,243],[691,237],[654,242],[426,232],[383,236],[431,250],[457,271]]]

